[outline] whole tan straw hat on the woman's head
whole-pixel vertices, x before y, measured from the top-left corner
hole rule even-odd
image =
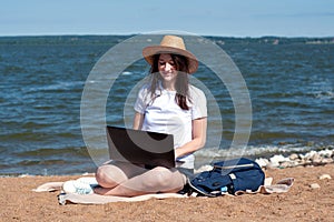
[[[153,65],[154,56],[159,53],[173,53],[186,57],[189,64],[189,73],[196,72],[198,68],[196,57],[186,50],[185,42],[180,37],[165,36],[159,46],[150,46],[143,49],[143,56],[150,65]]]

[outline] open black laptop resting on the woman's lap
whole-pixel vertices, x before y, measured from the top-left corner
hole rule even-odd
[[[107,140],[111,160],[175,168],[171,134],[107,125]]]

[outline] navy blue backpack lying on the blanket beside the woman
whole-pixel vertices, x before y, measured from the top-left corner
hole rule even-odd
[[[218,196],[226,192],[256,191],[264,184],[265,174],[261,167],[246,158],[219,161],[210,171],[188,180],[189,186],[206,196]]]

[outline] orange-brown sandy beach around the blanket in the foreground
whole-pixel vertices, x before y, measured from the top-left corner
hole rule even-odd
[[[0,221],[333,221],[334,164],[269,169],[273,183],[294,178],[287,193],[59,205],[56,192],[31,190],[71,176],[1,178]],[[320,188],[312,188],[317,183]]]

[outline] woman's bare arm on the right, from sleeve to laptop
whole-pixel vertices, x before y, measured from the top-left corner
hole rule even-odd
[[[207,118],[193,120],[193,140],[175,150],[176,158],[195,152],[205,145]]]

